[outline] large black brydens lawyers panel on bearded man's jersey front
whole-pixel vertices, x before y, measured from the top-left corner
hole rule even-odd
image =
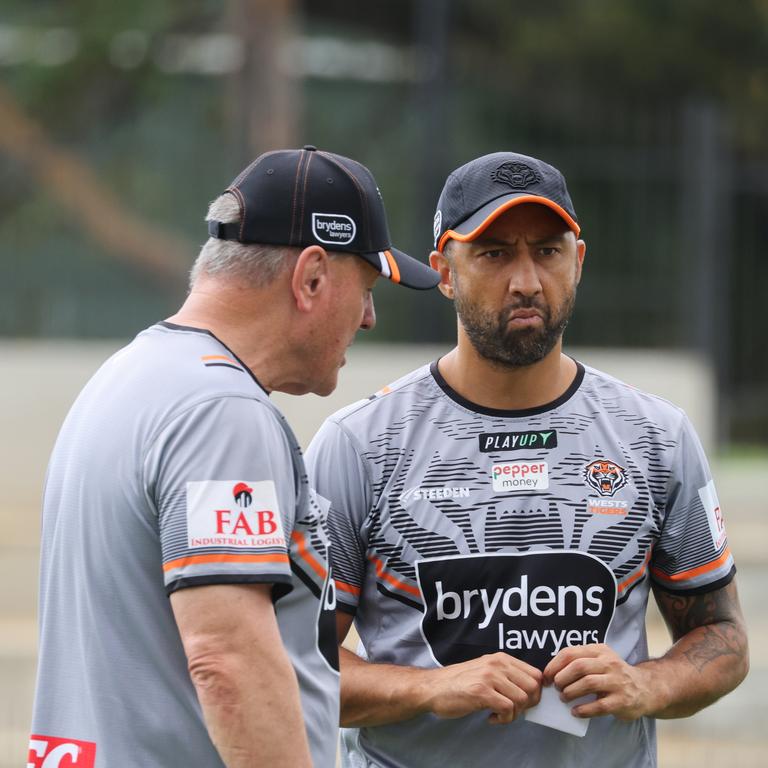
[[[585,552],[485,552],[416,562],[421,631],[441,666],[503,651],[543,669],[562,648],[602,643],[616,578]]]

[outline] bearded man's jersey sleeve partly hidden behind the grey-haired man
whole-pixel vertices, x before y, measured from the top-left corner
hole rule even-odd
[[[355,613],[366,568],[361,535],[371,504],[365,465],[344,429],[329,419],[305,457],[310,484],[330,502],[327,526],[338,607]]]

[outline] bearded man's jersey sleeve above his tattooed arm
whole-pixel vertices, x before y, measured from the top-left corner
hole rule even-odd
[[[670,472],[664,522],[651,562],[653,579],[667,592],[719,589],[736,568],[709,464],[685,417]]]

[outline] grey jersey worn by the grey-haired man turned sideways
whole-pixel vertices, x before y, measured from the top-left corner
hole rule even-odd
[[[285,419],[214,336],[161,323],[114,355],[48,469],[28,764],[221,768],[168,595],[261,582],[274,585],[314,764],[331,768],[326,512]]]

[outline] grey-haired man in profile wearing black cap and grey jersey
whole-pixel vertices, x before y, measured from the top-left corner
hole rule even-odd
[[[86,385],[43,505],[28,766],[334,765],[327,503],[273,390],[329,394],[391,247],[370,172],[259,157],[208,213],[184,305]]]

